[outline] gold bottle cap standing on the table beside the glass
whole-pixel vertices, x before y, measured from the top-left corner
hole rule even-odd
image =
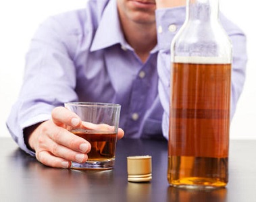
[[[149,182],[152,179],[151,156],[128,156],[127,172],[129,182]]]

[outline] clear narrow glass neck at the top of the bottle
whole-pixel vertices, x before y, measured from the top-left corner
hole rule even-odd
[[[219,0],[187,0],[186,20],[209,22],[219,18]]]

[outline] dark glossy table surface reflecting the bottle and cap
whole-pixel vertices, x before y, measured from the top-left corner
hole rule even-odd
[[[118,141],[113,170],[49,168],[0,138],[0,201],[256,201],[256,140],[231,140],[225,189],[195,191],[170,187],[167,141]],[[127,156],[152,156],[149,183],[127,181]]]

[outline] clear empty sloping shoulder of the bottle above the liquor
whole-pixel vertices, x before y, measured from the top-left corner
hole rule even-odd
[[[186,23],[176,34],[171,52],[180,57],[231,58],[232,44],[221,24]]]

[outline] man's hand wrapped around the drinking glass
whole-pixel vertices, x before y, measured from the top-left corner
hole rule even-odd
[[[70,168],[71,161],[86,162],[91,150],[90,143],[68,131],[70,127],[82,125],[78,115],[64,107],[57,107],[51,116],[51,120],[24,131],[28,145],[36,152],[36,159],[55,168]],[[118,129],[118,139],[123,136],[124,131]]]

